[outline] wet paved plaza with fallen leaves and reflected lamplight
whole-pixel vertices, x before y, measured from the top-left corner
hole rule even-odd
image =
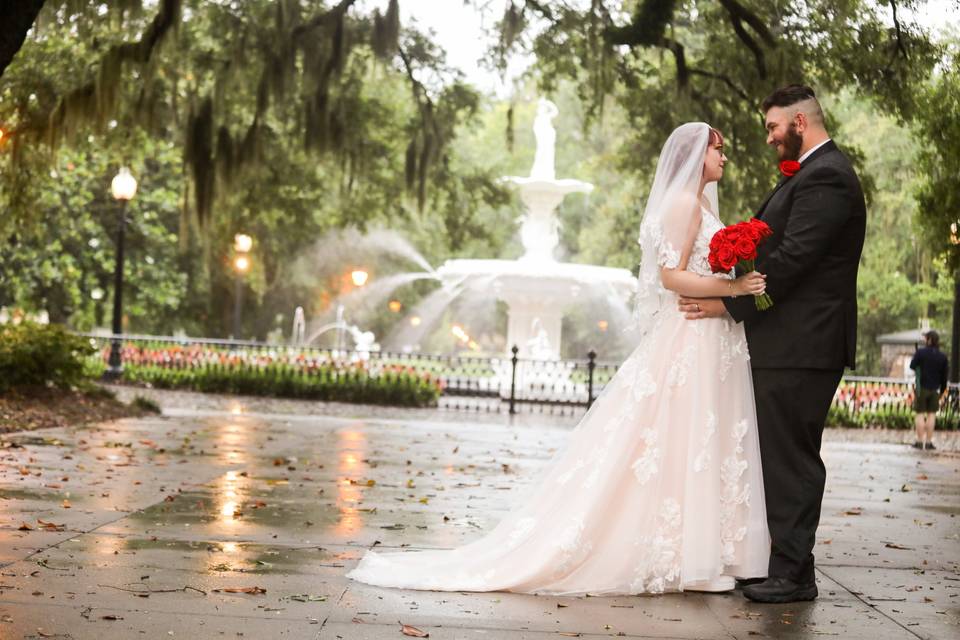
[[[960,456],[828,436],[814,603],[417,592],[344,574],[481,535],[574,419],[151,395],[0,439],[0,638],[960,634]]]

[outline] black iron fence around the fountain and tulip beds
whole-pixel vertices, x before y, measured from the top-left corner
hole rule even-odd
[[[98,348],[96,366],[109,353],[110,335],[79,334]],[[442,408],[491,413],[538,412],[573,415],[589,407],[614,376],[619,363],[594,352],[584,359],[535,360],[510,356],[349,351],[245,340],[123,335],[123,360],[134,366],[172,370],[217,366],[249,371],[284,365],[307,375],[318,368],[362,370],[373,377],[408,374],[428,380]],[[911,428],[912,380],[848,376],[834,396],[829,424]],[[951,384],[938,418],[940,428],[960,425],[960,388]]]

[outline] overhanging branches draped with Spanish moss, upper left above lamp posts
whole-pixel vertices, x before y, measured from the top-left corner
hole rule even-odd
[[[42,93],[29,89],[29,98],[24,87],[8,119],[18,147],[72,143],[111,119],[175,139],[184,213],[202,226],[214,212],[229,215],[234,192],[266,166],[265,147],[278,137],[333,169],[324,172],[329,194],[393,159],[378,145],[383,133],[405,147],[405,186],[422,209],[427,186],[446,172],[450,133],[476,108],[476,92],[446,68],[443,52],[402,28],[397,0],[383,15],[355,0],[129,3],[48,3],[21,55],[66,43],[77,49],[67,56],[73,73],[40,83]],[[50,62],[35,69],[39,77],[60,76],[63,65]],[[17,65],[33,66],[18,60],[14,76]],[[367,100],[381,83],[403,89],[386,110]]]

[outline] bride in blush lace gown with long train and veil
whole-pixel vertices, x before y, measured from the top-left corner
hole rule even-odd
[[[723,136],[694,122],[660,154],[640,227],[636,349],[544,476],[489,533],[451,550],[368,551],[348,577],[384,587],[621,595],[727,591],[770,553],[742,325],[686,320],[677,295],[759,294],[711,273]]]

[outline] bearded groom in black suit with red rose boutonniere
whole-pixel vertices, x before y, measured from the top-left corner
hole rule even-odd
[[[854,366],[866,205],[810,87],[778,89],[762,109],[784,173],[756,215],[773,231],[756,265],[774,306],[757,311],[752,296],[741,296],[681,298],[680,309],[689,319],[728,314],[745,323],[772,548],[769,577],[746,581],[753,584],[743,594],[794,602],[817,597],[812,551],[826,480],[820,439],[843,369]]]

